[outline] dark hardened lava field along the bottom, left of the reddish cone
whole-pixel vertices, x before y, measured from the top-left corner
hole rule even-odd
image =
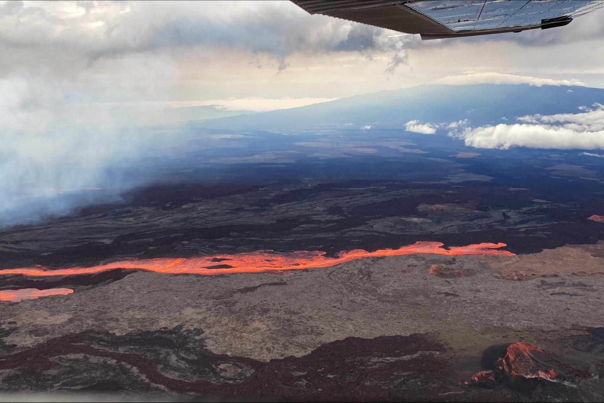
[[[57,390],[77,374],[90,392],[194,393],[311,401],[417,401],[437,399],[448,361],[426,335],[349,337],[308,355],[260,362],[216,355],[199,329],[177,327],[117,336],[83,332],[50,339],[0,356],[4,392]],[[67,382],[67,383],[66,383]],[[59,390],[69,388],[59,387]]]

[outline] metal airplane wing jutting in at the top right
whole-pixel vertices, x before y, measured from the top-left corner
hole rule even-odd
[[[420,34],[422,39],[519,32],[567,25],[604,0],[292,0],[310,14]]]

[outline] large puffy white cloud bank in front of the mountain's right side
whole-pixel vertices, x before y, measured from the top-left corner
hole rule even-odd
[[[516,120],[525,123],[465,128],[449,136],[477,148],[604,149],[604,105],[599,103],[583,113],[522,116]]]

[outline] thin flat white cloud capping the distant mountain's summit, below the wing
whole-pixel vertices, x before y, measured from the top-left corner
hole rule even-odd
[[[435,84],[466,85],[466,84],[529,84],[535,87],[542,85],[582,85],[583,82],[576,79],[554,80],[539,77],[516,76],[506,73],[471,73],[460,76],[446,76],[435,81]]]

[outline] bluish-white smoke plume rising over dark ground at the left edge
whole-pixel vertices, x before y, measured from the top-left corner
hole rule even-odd
[[[127,113],[79,103],[86,97],[63,82],[0,79],[0,226],[115,199],[146,180],[129,177],[129,163],[168,139],[124,125],[135,123]]]

